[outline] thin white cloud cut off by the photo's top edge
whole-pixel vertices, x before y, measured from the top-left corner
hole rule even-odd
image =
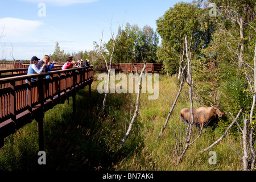
[[[79,4],[79,3],[90,3],[95,2],[98,0],[20,0],[32,3],[49,3],[55,6],[68,6],[72,4]]]

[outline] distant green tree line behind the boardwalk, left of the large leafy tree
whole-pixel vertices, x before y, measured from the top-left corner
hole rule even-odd
[[[114,39],[117,39],[121,32],[121,40],[119,40],[113,54],[113,63],[143,63],[142,57],[148,63],[156,63],[156,49],[159,44],[159,36],[152,27],[146,25],[140,28],[138,24],[131,25],[126,23],[125,30],[122,30],[120,26]],[[112,51],[112,39],[102,44],[102,50],[104,56],[109,59],[109,52]],[[75,53],[65,53],[64,50],[60,49],[59,43],[56,42],[55,51],[51,55],[52,59],[63,61],[69,56],[82,60],[88,58],[94,64],[104,63],[100,53],[100,46],[97,42],[93,42],[93,50]]]

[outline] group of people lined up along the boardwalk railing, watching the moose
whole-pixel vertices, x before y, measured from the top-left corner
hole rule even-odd
[[[55,64],[55,61],[53,61],[53,63],[50,62],[50,57],[48,55],[45,55],[43,57],[43,60],[41,60],[41,61],[39,61],[39,60],[40,59],[36,56],[33,56],[31,58],[31,63],[28,67],[27,75],[31,75],[31,74],[35,74],[35,73],[40,74],[42,72],[47,73],[53,68],[53,66]],[[61,69],[86,67],[86,66],[90,65],[89,59],[86,59],[85,63],[82,63],[81,59],[79,59],[77,61],[73,60],[73,56],[68,57],[68,60],[66,61],[65,64],[68,64],[68,63],[70,63],[69,67],[65,67],[65,68],[62,67]],[[46,78],[49,78],[49,75],[47,75]],[[36,81],[36,79],[37,78],[31,78],[31,81]],[[26,80],[26,82],[27,82],[27,80]]]

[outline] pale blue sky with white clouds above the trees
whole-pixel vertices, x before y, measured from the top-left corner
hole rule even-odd
[[[178,0],[0,0],[0,60],[93,49],[123,23],[151,26]],[[185,2],[191,2],[189,0]],[[43,3],[43,4],[42,4]],[[42,6],[43,5],[43,6]],[[45,8],[44,8],[45,5]],[[45,13],[45,16],[44,16]],[[43,16],[42,16],[43,15]],[[110,25],[110,22],[111,25]]]

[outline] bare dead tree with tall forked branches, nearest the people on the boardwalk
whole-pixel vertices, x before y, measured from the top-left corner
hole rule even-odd
[[[102,50],[102,39],[103,39],[103,32],[102,31],[102,35],[101,35],[101,40],[100,40],[100,54],[102,55],[103,59],[105,60],[106,63],[106,68],[108,70],[108,79],[107,79],[107,87],[106,87],[106,93],[104,96],[104,100],[103,100],[103,105],[102,105],[102,109],[101,109],[101,114],[104,113],[105,110],[105,106],[106,106],[106,99],[108,97],[108,92],[109,92],[109,79],[110,79],[110,71],[111,71],[111,64],[112,64],[112,60],[113,60],[113,53],[115,51],[115,46],[117,45],[117,43],[120,41],[121,36],[122,36],[122,30],[123,30],[123,25],[121,27],[121,34],[119,35],[119,37],[117,39],[114,38],[114,33],[112,32],[112,25],[110,23],[110,32],[111,32],[111,37],[112,37],[112,52],[110,52],[110,60],[109,63],[106,60],[106,57],[104,56],[103,50]],[[111,49],[110,49],[111,50]]]

